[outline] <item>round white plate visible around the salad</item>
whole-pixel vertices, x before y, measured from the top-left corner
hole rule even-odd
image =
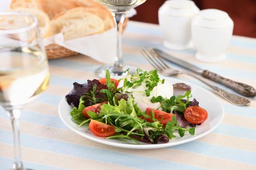
[[[170,81],[172,84],[181,82],[180,80],[177,80],[174,78],[165,78],[165,79]],[[196,127],[195,136],[186,134],[183,137],[177,136],[175,139],[170,140],[168,143],[149,144],[149,143],[140,142],[140,145],[135,144],[131,140],[121,141],[119,139],[106,139],[104,137],[98,137],[92,134],[92,132],[88,129],[88,124],[79,127],[78,124],[71,119],[72,117],[70,115],[70,111],[72,110],[72,108],[68,105],[65,98],[63,98],[59,103],[59,117],[68,128],[70,128],[72,131],[79,134],[80,136],[84,136],[88,139],[91,139],[93,141],[106,144],[106,145],[111,145],[111,146],[120,147],[120,148],[130,148],[130,149],[155,149],[155,148],[164,148],[164,147],[180,145],[182,143],[190,142],[209,134],[220,124],[220,122],[224,117],[223,106],[215,95],[213,95],[208,90],[200,86],[194,85],[192,83],[188,83],[184,81],[182,81],[182,83],[191,85],[191,94],[193,95],[193,98],[197,99],[200,107],[208,111],[208,119],[204,123]],[[175,95],[177,95],[177,93]]]

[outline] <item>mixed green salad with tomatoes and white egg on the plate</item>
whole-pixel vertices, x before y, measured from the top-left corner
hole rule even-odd
[[[72,120],[78,126],[89,123],[96,136],[157,144],[186,133],[195,135],[196,125],[207,119],[207,111],[196,99],[190,100],[189,85],[161,80],[157,70],[126,73],[115,80],[107,70],[106,78],[74,83],[66,95],[73,107]],[[184,95],[173,95],[177,87],[185,90]]]

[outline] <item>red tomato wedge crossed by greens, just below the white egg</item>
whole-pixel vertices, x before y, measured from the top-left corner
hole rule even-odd
[[[151,117],[151,112],[152,112],[152,110],[153,110],[152,108],[147,107],[145,114],[147,114],[147,115],[149,115],[149,116]],[[160,121],[161,124],[163,124],[163,125],[165,126],[168,121],[171,121],[171,120],[172,120],[172,117],[173,117],[173,115],[175,115],[175,114],[166,113],[166,112],[164,112],[164,111],[154,109],[154,115],[155,115],[155,118],[156,118],[158,121]],[[176,116],[176,115],[175,115],[175,116]],[[154,122],[151,118],[147,118],[146,120],[147,120],[147,121],[150,121],[150,122]]]

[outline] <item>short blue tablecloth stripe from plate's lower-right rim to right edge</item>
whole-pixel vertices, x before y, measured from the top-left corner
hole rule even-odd
[[[256,140],[256,129],[244,128],[230,124],[220,124],[213,132],[227,136]]]

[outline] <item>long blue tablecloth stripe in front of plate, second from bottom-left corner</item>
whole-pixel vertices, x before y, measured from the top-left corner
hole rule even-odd
[[[0,138],[0,142],[12,144],[11,132],[0,130],[0,136],[4,136]],[[170,167],[175,170],[202,170],[198,167],[179,164],[172,161],[147,158],[127,153],[118,153],[109,150],[87,147],[30,135],[21,135],[21,145],[28,148],[79,156],[86,159],[103,161],[145,170],[168,170]]]

